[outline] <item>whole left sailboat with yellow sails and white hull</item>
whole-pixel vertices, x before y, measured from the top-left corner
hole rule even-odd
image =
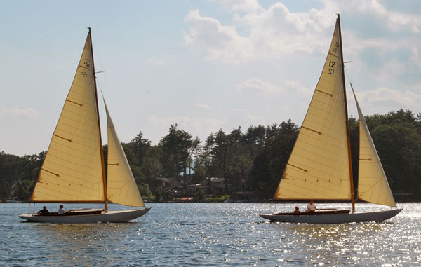
[[[105,100],[104,100],[105,103]],[[51,138],[30,203],[104,203],[104,209],[20,214],[28,221],[88,224],[131,221],[146,214],[135,179],[105,104],[108,132],[107,177],[102,151],[91,28],[72,86]],[[137,207],[108,210],[108,202]]]

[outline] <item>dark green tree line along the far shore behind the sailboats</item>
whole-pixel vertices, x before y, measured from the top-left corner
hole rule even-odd
[[[366,116],[366,123],[394,193],[421,200],[421,114],[403,109]],[[272,198],[300,128],[292,121],[268,126],[218,130],[206,140],[171,125],[159,144],[140,132],[123,143],[140,192],[149,198],[158,177],[195,184],[206,177],[225,178],[226,193],[252,191]],[[359,123],[349,118],[354,184],[358,177]],[[104,146],[107,160],[107,146]],[[15,156],[0,153],[0,199],[29,200],[46,152]],[[152,189],[152,190],[151,190]]]

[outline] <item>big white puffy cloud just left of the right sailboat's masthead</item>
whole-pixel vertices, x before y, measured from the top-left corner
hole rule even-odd
[[[326,52],[331,34],[324,29],[332,28],[335,23],[334,19],[326,20],[326,17],[335,18],[333,11],[290,13],[282,3],[267,9],[258,4],[241,9],[238,1],[218,3],[232,4],[230,10],[248,13],[243,16],[234,13],[233,25],[221,25],[216,18],[202,17],[199,10],[189,11],[185,18],[189,24],[189,31],[184,32],[185,43],[203,49],[208,60],[244,63],[276,60],[285,54]],[[245,28],[247,34],[239,34],[237,26]]]

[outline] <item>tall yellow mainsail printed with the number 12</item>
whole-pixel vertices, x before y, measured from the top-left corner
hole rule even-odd
[[[339,27],[274,199],[351,199]]]

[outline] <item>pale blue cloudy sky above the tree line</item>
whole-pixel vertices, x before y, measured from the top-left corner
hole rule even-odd
[[[363,113],[421,112],[421,1],[0,1],[0,151],[48,149],[87,27],[121,142],[301,125],[337,13]]]

